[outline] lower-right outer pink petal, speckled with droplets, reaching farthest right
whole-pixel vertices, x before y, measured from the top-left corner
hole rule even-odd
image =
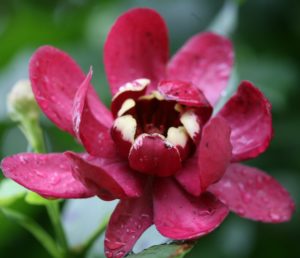
[[[249,219],[284,222],[295,210],[291,196],[274,178],[241,164],[232,164],[222,180],[208,190],[230,210]]]

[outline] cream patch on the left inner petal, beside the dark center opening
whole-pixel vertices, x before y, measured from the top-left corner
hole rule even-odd
[[[114,128],[121,132],[125,141],[134,142],[137,123],[131,115],[118,117],[114,122]]]

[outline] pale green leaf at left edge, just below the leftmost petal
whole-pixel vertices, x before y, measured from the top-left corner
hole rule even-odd
[[[0,207],[8,206],[17,199],[22,198],[28,190],[10,179],[0,182]]]

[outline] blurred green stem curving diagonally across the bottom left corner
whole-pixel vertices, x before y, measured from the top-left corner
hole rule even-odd
[[[4,216],[27,229],[51,256],[55,258],[63,258],[52,237],[47,232],[45,232],[45,230],[33,219],[8,208],[1,207],[0,211],[4,214]]]

